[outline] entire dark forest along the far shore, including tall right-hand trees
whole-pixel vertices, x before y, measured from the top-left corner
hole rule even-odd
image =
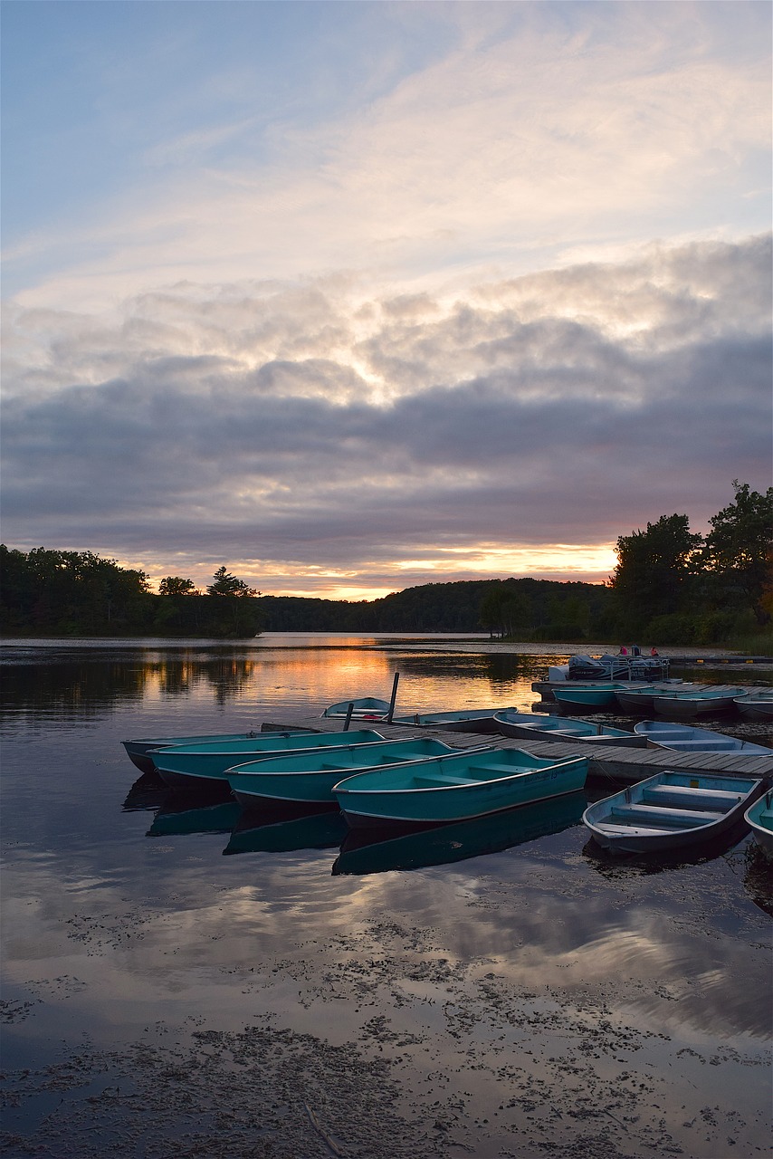
[[[773,618],[773,488],[734,480],[703,537],[661,516],[617,541],[604,584],[533,578],[423,584],[374,600],[263,596],[221,566],[200,591],[92,552],[0,545],[3,636],[247,639],[261,632],[457,632],[517,641],[765,641]]]

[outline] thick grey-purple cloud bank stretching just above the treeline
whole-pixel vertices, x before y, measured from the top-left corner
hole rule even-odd
[[[752,238],[447,298],[337,276],[172,286],[118,322],[16,308],[6,540],[202,581],[241,561],[264,591],[516,574],[530,549],[546,574],[573,544],[601,578],[633,526],[701,530],[734,478],[767,486],[770,270]]]

